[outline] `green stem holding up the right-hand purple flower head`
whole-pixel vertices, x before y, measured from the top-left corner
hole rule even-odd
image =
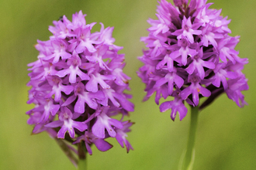
[[[185,152],[185,161],[183,164],[183,170],[192,170],[192,166],[195,158],[195,132],[197,127],[197,121],[199,116],[199,107],[191,107],[191,119],[189,127],[189,140],[187,145],[187,151]]]

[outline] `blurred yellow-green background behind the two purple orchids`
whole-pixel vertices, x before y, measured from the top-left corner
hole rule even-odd
[[[232,36],[240,35],[237,50],[240,57],[249,58],[244,73],[250,90],[245,91],[248,105],[237,107],[223,94],[199,115],[195,141],[194,169],[255,169],[256,167],[256,1],[211,0],[211,8],[222,8],[222,15],[232,19]],[[76,169],[56,142],[46,133],[30,135],[33,127],[26,124],[25,112],[33,106],[26,104],[27,63],[36,60],[36,39],[47,40],[52,25],[61,15],[71,20],[74,12],[86,13],[86,21],[115,26],[113,37],[117,46],[124,46],[125,73],[132,77],[130,93],[135,111],[130,120],[136,122],[129,140],[134,151],[109,138],[114,147],[106,152],[92,147],[88,169],[177,169],[187,143],[189,114],[183,121],[171,121],[170,110],[161,113],[154,97],[142,102],[144,84],[136,71],[142,63],[147,36],[148,18],[156,19],[157,0],[0,0],[0,169],[51,170]]]

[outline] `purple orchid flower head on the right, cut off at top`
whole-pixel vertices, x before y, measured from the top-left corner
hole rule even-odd
[[[157,20],[149,19],[149,36],[141,40],[149,49],[139,57],[144,66],[138,76],[146,84],[147,100],[156,92],[161,97],[174,97],[160,106],[161,112],[171,109],[174,121],[187,114],[185,101],[192,107],[200,97],[208,97],[199,109],[209,105],[221,93],[239,107],[246,102],[242,90],[248,90],[247,79],[241,70],[247,59],[241,59],[234,49],[239,36],[229,36],[230,20],[221,10],[210,9],[206,0],[174,0],[175,5],[161,0]]]

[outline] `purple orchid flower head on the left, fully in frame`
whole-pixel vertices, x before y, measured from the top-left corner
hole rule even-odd
[[[113,44],[113,27],[91,33],[95,23],[87,24],[82,12],[70,22],[64,15],[49,30],[48,41],[39,41],[38,59],[28,66],[31,86],[28,124],[33,134],[47,131],[53,138],[63,138],[73,145],[84,142],[92,155],[91,145],[100,151],[112,148],[106,138],[116,138],[119,145],[133,149],[126,132],[133,124],[123,121],[133,104],[128,100],[129,76],[123,73],[123,47]],[[121,114],[120,120],[112,118]],[[66,133],[68,132],[68,133]]]

